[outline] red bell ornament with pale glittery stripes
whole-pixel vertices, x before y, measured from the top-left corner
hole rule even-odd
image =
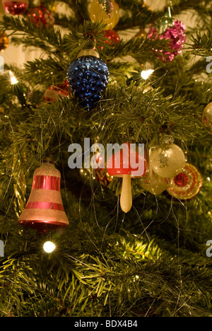
[[[40,233],[69,226],[60,191],[61,173],[49,160],[35,170],[33,187],[18,222]]]

